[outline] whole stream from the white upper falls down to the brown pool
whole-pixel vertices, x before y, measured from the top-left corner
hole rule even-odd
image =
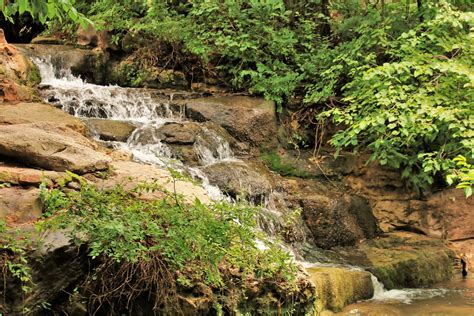
[[[186,122],[183,106],[173,102],[173,92],[99,86],[86,83],[81,78],[73,76],[69,69],[55,66],[50,58],[34,58],[34,62],[38,66],[42,77],[42,95],[49,103],[80,118],[127,121],[137,126],[126,142],[109,141],[107,142],[108,146],[126,150],[133,155],[134,160],[142,163],[162,167],[171,166],[186,171],[194,178],[202,181],[202,186],[212,199],[226,198],[219,188],[209,184],[207,176],[201,169],[186,166],[173,159],[170,148],[158,138],[148,139],[146,143],[141,141],[143,135],[148,138],[154,137],[153,133],[146,134],[149,130],[157,130],[170,122]],[[206,133],[208,141],[203,141],[197,137],[194,144],[194,151],[197,153],[202,166],[236,159],[229,143],[224,138],[206,127],[202,127],[202,130]],[[278,208],[281,206],[278,204],[281,204],[282,200],[279,194],[274,192],[266,197],[264,201],[265,216],[259,219],[259,224],[269,235],[275,235],[276,231],[281,228],[279,227],[279,225],[281,226],[281,219],[279,218],[281,213],[278,212]],[[294,252],[293,249],[286,248],[289,252]],[[294,256],[295,259],[300,260],[303,266],[334,266],[334,264],[327,263],[327,259],[323,255],[320,258],[321,262],[326,263],[319,261],[317,263],[307,263],[304,262],[301,255],[295,253]],[[357,267],[344,267],[360,270]],[[383,284],[372,275],[375,290],[374,297],[369,301],[350,305],[340,314],[435,315],[426,310],[426,306],[435,304],[436,306],[443,305],[446,307],[446,309],[443,309],[446,313],[436,315],[474,315],[473,281],[472,279],[457,280],[441,285],[437,289],[387,291]]]

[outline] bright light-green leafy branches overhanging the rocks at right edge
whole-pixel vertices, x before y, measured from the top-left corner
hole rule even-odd
[[[345,108],[322,114],[345,129],[338,149],[369,148],[372,160],[403,170],[414,189],[474,158],[472,13],[444,4],[435,18],[390,43],[391,61],[357,68],[345,85]]]

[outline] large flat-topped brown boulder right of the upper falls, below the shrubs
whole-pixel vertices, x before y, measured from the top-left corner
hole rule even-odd
[[[277,142],[275,104],[260,98],[223,96],[187,101],[186,116],[212,121],[230,135],[253,146],[271,147]]]

